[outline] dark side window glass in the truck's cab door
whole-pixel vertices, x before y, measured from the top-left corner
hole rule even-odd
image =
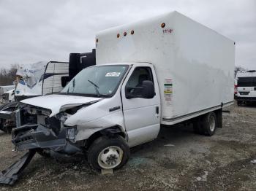
[[[132,72],[132,75],[131,77],[129,77],[127,85],[125,86],[126,97],[127,97],[127,94],[129,94],[129,95],[132,95],[132,98],[141,98],[142,84],[143,84],[143,81],[146,81],[146,80],[153,82],[151,68],[137,67]]]

